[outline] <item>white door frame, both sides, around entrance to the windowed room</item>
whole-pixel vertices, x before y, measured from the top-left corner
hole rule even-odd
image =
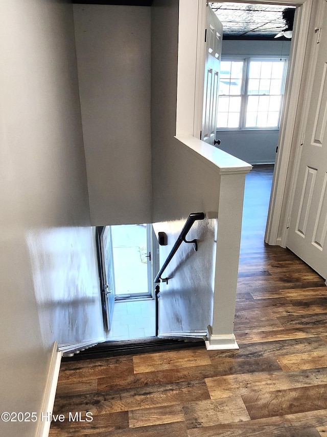
[[[225,0],[229,3],[232,0]],[[239,3],[249,3],[249,0],[238,0]],[[275,162],[265,241],[272,245],[283,245],[282,232],[286,227],[285,210],[290,193],[290,180],[293,173],[291,157],[295,155],[298,145],[297,125],[300,119],[303,89],[306,87],[305,70],[306,48],[314,37],[314,29],[309,33],[310,18],[316,3],[313,0],[252,0],[256,4],[293,5],[297,7],[295,26],[291,43],[290,68],[288,72],[287,89],[285,91],[281,128],[279,129],[278,154]],[[204,81],[204,29],[205,0],[189,2],[180,0],[181,32],[187,38],[181,38],[178,48],[177,76],[177,114],[176,135],[192,135],[200,137],[203,108]],[[188,57],[184,54],[188,53]],[[193,59],[193,62],[190,62]],[[192,92],[194,90],[194,92]]]

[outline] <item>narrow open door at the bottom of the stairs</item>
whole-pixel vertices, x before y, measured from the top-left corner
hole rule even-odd
[[[111,227],[105,226],[101,238],[101,253],[103,262],[104,290],[106,302],[106,314],[108,330],[111,328],[111,321],[114,306],[114,271],[113,271],[113,256],[112,256],[112,238]]]

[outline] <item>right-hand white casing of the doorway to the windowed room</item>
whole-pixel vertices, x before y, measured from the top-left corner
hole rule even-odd
[[[284,0],[279,2],[279,4],[284,3],[287,4]],[[303,77],[305,56],[306,49],[310,47],[314,37],[313,29],[310,33],[310,18],[314,9],[313,1],[304,0],[294,3],[294,5],[297,6],[297,11],[291,45],[290,68],[265,234],[265,241],[268,244],[284,247],[286,241],[282,239],[282,233],[287,227],[285,211],[292,188],[290,181],[294,172],[292,157],[299,145],[298,122],[303,109],[303,105],[301,105],[305,94],[303,91],[307,85],[307,77]]]

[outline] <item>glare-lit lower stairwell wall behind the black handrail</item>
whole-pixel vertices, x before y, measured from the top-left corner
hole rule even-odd
[[[168,235],[168,245],[159,248],[161,265],[175,244],[186,218],[155,224],[156,232]],[[215,218],[196,221],[187,239],[197,239],[198,251],[194,251],[193,244],[183,242],[162,274],[162,278],[170,279],[168,284],[160,283],[161,334],[201,331],[212,324],[216,222]]]

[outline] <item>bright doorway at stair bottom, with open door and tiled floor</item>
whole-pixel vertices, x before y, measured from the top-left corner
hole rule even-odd
[[[98,260],[107,341],[155,336],[153,278],[158,243],[149,223],[98,227]]]

